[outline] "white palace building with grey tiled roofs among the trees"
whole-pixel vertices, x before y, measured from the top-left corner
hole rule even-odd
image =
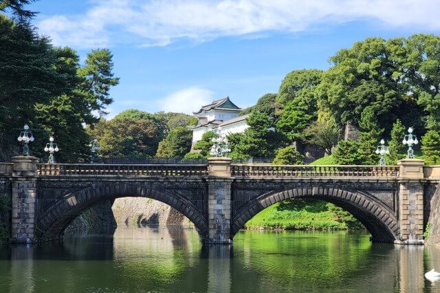
[[[220,100],[214,100],[210,105],[192,112],[197,117],[197,124],[190,127],[192,130],[192,144],[201,140],[201,135],[208,131],[214,133],[241,133],[249,127],[246,124],[248,115],[239,116],[243,109],[237,107],[227,96]]]

